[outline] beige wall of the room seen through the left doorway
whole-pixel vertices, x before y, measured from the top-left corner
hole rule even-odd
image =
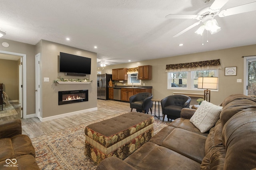
[[[0,59],[0,83],[9,100],[19,100],[18,61]]]

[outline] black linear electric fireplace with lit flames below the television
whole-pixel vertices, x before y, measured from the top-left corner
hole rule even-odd
[[[59,105],[88,101],[88,90],[73,90],[59,92]]]

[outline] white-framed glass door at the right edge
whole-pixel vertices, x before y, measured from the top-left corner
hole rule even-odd
[[[244,95],[256,98],[256,56],[244,57]]]

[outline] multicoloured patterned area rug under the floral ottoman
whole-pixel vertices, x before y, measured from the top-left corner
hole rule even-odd
[[[126,112],[31,139],[36,150],[38,166],[41,170],[94,170],[96,164],[84,155],[84,128],[124,113]],[[154,134],[169,124],[170,122],[155,118]]]

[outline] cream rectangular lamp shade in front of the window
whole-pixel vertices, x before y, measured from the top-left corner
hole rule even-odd
[[[218,77],[198,77],[197,88],[218,89]]]

